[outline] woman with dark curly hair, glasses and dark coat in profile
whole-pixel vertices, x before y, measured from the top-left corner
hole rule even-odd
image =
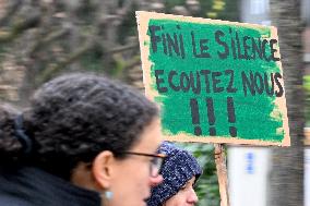
[[[156,106],[94,74],[44,84],[29,108],[0,107],[0,205],[140,206],[162,182]]]

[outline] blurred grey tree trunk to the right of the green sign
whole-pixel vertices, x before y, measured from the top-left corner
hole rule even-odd
[[[300,0],[271,0],[272,25],[278,29],[291,146],[274,148],[270,206],[303,205],[303,101]]]

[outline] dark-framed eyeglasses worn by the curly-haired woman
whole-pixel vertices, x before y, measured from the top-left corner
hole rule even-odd
[[[150,175],[152,178],[158,177],[160,172],[160,168],[167,155],[165,154],[146,154],[146,153],[135,153],[135,152],[122,152],[118,154],[126,154],[126,155],[138,155],[138,156],[146,156],[152,157],[150,163]]]

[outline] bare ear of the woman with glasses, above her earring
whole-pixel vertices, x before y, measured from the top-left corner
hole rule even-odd
[[[99,189],[110,187],[112,179],[112,165],[115,162],[114,154],[109,150],[99,153],[93,161],[93,174],[95,183]]]

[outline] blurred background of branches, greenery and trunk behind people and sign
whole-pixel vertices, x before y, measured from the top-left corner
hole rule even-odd
[[[278,27],[291,147],[227,146],[230,205],[310,206],[310,0],[0,0],[0,100],[26,107],[70,71],[143,92],[138,10]],[[179,145],[204,167],[199,205],[218,206],[213,145]]]

